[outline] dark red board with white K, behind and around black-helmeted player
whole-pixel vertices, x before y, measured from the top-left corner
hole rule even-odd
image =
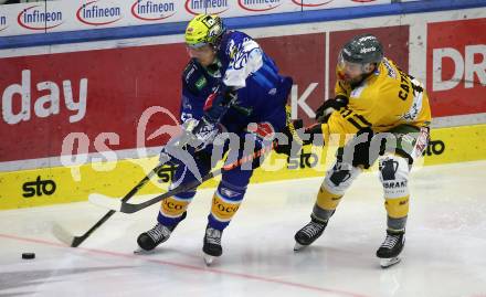
[[[262,47],[277,62],[282,73],[293,76],[296,94],[292,96],[292,105],[297,106],[297,115],[306,125],[314,110],[323,104],[325,92],[334,96],[336,83],[335,68],[341,46],[351,38],[362,33],[376,34],[383,43],[385,54],[404,71],[409,64],[409,25],[374,28],[330,32],[329,38],[329,91],[326,82],[326,35],[325,33],[303,34],[262,39]]]

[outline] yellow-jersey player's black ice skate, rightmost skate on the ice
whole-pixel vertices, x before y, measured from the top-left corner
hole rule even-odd
[[[388,268],[401,261],[399,257],[405,244],[404,231],[387,230],[387,237],[377,251],[377,257],[380,258],[380,266]]]

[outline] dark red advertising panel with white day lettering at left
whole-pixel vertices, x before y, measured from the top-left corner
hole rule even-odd
[[[70,132],[89,142],[76,144],[73,153],[135,148],[150,106],[178,117],[187,61],[182,44],[1,59],[0,161],[60,156]],[[173,120],[159,114],[146,126],[152,131],[162,124]]]

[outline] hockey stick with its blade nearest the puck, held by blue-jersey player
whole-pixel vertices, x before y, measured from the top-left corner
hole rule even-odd
[[[128,201],[135,193],[140,190],[141,187],[144,187],[150,179],[156,174],[161,168],[163,163],[159,163],[156,168],[154,168],[142,180],[140,180],[137,185],[135,185],[120,201]],[[113,214],[115,214],[116,211],[108,211],[99,221],[97,221],[88,231],[86,231],[81,236],[74,236],[70,232],[67,232],[63,226],[61,226],[59,223],[53,223],[52,226],[52,233],[54,236],[60,240],[61,242],[65,243],[66,245],[71,247],[77,247],[80,244],[82,244],[95,230],[97,230],[103,223],[105,223],[109,218],[112,218]]]

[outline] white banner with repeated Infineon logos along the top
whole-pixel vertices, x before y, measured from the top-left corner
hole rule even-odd
[[[0,36],[181,22],[199,13],[247,17],[390,0],[83,0],[0,6]]]

